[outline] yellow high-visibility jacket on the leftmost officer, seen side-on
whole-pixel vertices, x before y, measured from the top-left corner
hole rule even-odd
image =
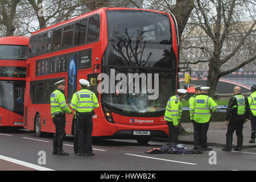
[[[51,93],[51,114],[52,118],[55,116],[55,114],[60,112],[65,113],[72,113],[72,111],[68,108],[65,100],[65,95],[61,90],[54,90],[54,92]]]

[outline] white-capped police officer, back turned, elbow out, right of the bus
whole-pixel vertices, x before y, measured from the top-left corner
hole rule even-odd
[[[195,97],[190,107],[194,126],[194,150],[197,152],[212,150],[207,146],[207,131],[211,112],[214,112],[218,107],[212,97],[207,96],[210,88],[202,86],[200,89],[201,93]]]

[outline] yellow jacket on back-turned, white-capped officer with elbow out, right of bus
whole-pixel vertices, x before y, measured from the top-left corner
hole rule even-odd
[[[197,95],[191,106],[192,118],[198,123],[207,123],[210,120],[210,107],[214,112],[218,105],[213,101],[212,97],[207,96],[205,93]]]

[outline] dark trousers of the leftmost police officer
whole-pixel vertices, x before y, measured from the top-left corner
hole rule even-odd
[[[55,125],[55,131],[53,137],[53,150],[54,151],[62,151],[63,150],[63,140],[66,136],[65,133],[65,126],[66,126],[66,119],[65,115],[61,117],[53,117],[52,122]]]

